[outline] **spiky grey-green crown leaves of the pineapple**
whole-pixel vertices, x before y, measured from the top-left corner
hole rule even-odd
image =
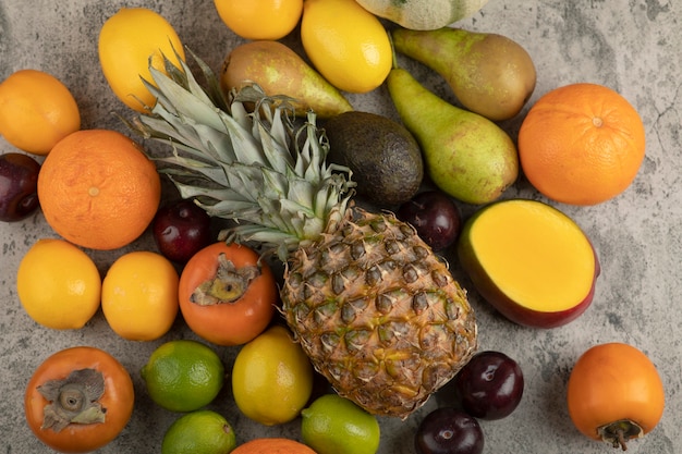
[[[191,52],[190,52],[191,53]],[[170,144],[162,163],[181,197],[236,225],[228,242],[259,242],[285,261],[343,219],[355,183],[350,169],[326,162],[329,144],[314,111],[296,126],[291,98],[266,96],[256,84],[222,93],[211,70],[194,59],[208,87],[188,65],[165,58],[143,81],[157,102],[132,122],[145,138]],[[255,106],[248,110],[247,106]]]

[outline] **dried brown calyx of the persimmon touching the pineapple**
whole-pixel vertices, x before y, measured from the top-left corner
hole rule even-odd
[[[251,282],[259,275],[260,269],[257,266],[236,268],[224,253],[221,253],[218,256],[216,274],[196,287],[191,302],[200,306],[236,302],[246,293]]]

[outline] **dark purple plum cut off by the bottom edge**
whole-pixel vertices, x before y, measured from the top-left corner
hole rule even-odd
[[[441,407],[426,415],[414,438],[417,454],[480,454],[480,425],[456,408]]]

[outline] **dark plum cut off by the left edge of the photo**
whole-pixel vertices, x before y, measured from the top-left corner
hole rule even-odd
[[[0,221],[21,221],[38,208],[39,171],[40,164],[29,156],[0,155]]]

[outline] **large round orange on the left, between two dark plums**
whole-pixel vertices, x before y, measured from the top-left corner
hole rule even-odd
[[[38,199],[50,226],[92,249],[117,249],[149,225],[161,198],[156,165],[139,145],[109,130],[60,140],[38,174]]]

